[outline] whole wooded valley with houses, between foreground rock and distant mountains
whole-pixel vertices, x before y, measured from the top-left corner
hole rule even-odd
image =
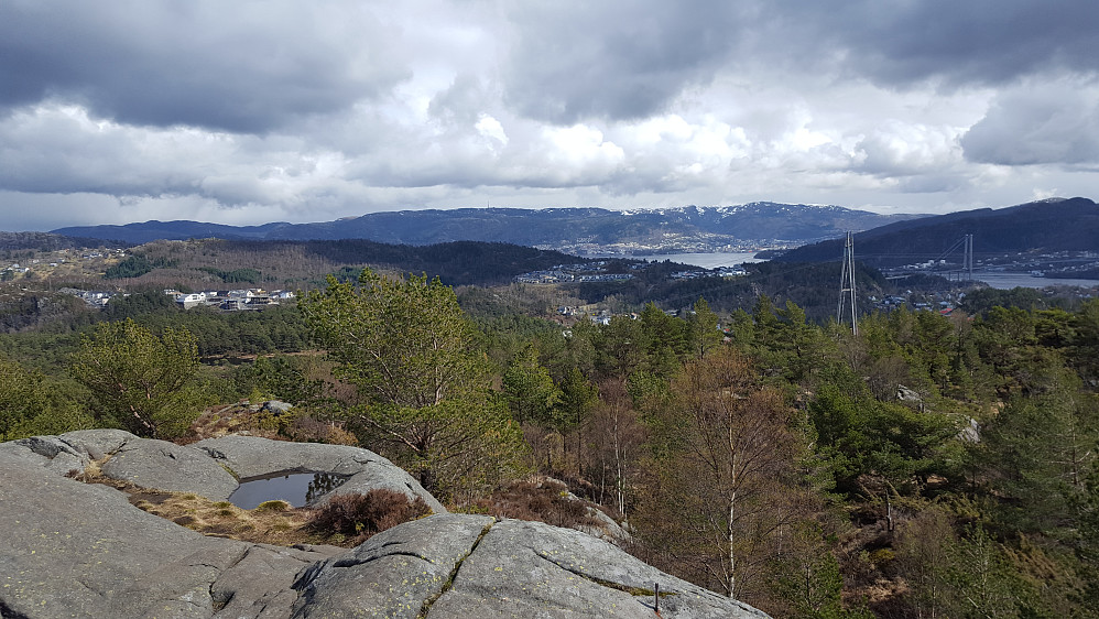
[[[982,587],[1019,613],[1089,608],[1099,290],[968,281],[957,257],[880,240],[956,226],[904,224],[856,236],[857,333],[836,321],[835,241],[706,268],[468,240],[9,235],[0,439],[367,447],[449,511],[603,522],[633,556],[780,617],[953,616]],[[975,280],[1095,259],[1019,247],[978,243]],[[177,380],[117,390],[148,376]],[[249,543],[353,545],[374,522],[171,501],[197,515],[142,509]]]

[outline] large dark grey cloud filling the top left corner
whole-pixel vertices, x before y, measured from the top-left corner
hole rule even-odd
[[[0,107],[59,99],[132,124],[262,132],[406,77],[369,14],[327,9],[322,20],[279,2],[6,0]]]

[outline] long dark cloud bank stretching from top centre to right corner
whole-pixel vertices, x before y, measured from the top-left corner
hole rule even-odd
[[[1095,0],[759,0],[522,3],[507,100],[570,123],[663,111],[722,69],[828,74],[892,87],[987,86],[1099,69]]]

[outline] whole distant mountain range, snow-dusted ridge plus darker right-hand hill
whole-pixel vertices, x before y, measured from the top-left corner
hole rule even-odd
[[[153,240],[366,239],[426,246],[496,241],[574,254],[646,254],[749,251],[795,247],[779,260],[838,260],[847,231],[856,231],[859,260],[893,267],[945,252],[973,235],[978,254],[1031,250],[1099,251],[1099,206],[1084,197],[1051,198],[1006,208],[948,215],[878,215],[839,206],[757,202],[739,206],[665,209],[458,208],[372,213],[314,224],[226,226],[199,221],[145,221],[80,226],[56,235],[140,245]],[[801,246],[801,247],[797,247]]]

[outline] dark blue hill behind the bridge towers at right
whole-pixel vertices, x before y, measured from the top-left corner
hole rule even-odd
[[[1006,208],[962,210],[897,221],[855,236],[856,259],[874,267],[895,267],[946,251],[973,235],[975,253],[1041,250],[1099,251],[1099,205],[1084,198],[1051,198]],[[840,260],[842,240],[806,245],[776,260]],[[926,258],[924,258],[926,259]]]

